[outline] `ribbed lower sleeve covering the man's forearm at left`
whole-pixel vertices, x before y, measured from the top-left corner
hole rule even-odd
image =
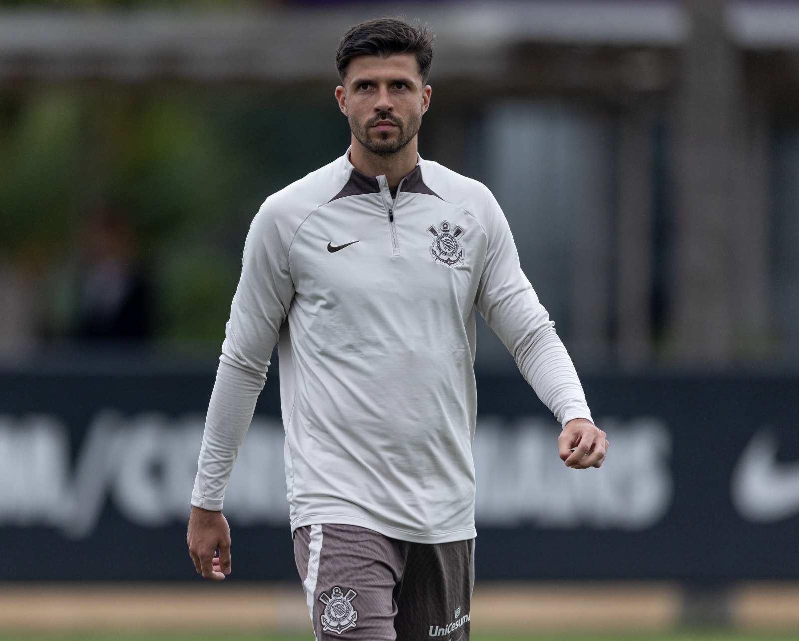
[[[192,505],[221,510],[233,464],[252,420],[264,376],[223,356],[205,419]]]

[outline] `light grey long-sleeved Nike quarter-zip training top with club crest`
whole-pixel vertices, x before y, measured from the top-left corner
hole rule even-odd
[[[419,159],[392,198],[345,154],[266,199],[242,264],[197,507],[222,508],[276,343],[292,530],[475,536],[475,309],[561,424],[590,420],[497,201],[438,163]]]

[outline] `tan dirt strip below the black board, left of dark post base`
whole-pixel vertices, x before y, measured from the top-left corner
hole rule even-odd
[[[679,590],[663,583],[479,583],[475,631],[668,629]],[[5,583],[0,629],[311,633],[299,582]]]

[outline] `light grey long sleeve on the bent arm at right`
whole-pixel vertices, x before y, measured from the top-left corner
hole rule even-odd
[[[574,364],[519,266],[519,253],[502,210],[490,193],[484,220],[486,263],[476,306],[513,355],[525,380],[562,425],[591,420]]]

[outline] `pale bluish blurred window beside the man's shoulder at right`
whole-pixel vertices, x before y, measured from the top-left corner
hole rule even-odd
[[[522,269],[567,346],[578,338],[574,315],[583,301],[575,287],[586,264],[578,259],[589,221],[606,219],[613,149],[610,119],[554,102],[501,102],[473,129],[479,138],[470,164],[502,206]],[[607,279],[609,274],[595,275]],[[479,321],[476,367],[514,371],[507,349]],[[590,346],[589,346],[590,347]]]

